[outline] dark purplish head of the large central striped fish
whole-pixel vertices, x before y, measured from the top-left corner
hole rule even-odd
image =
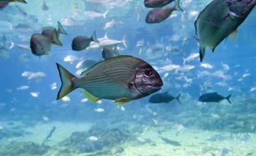
[[[135,86],[143,95],[157,92],[163,86],[163,81],[155,69],[148,63],[141,63],[136,68]]]

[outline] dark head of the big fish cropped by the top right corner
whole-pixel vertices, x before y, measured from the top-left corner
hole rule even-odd
[[[256,5],[256,0],[228,0],[230,11],[246,18]]]

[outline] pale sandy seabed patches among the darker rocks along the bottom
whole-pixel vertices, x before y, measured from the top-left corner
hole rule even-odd
[[[0,123],[4,129],[7,123]],[[18,125],[19,123],[15,123]],[[88,131],[92,123],[66,123],[66,122],[49,122],[39,123],[34,127],[27,127],[24,131],[31,132],[30,135],[24,137],[0,138],[1,144],[8,144],[12,141],[26,142],[32,141],[41,144],[44,138],[49,134],[52,127],[56,127],[54,134],[47,142],[49,146],[54,146],[60,141],[68,138],[73,132]],[[158,127],[160,127],[158,125]],[[246,141],[243,141],[243,136],[249,135]],[[216,138],[214,136],[221,136]],[[179,146],[165,143],[162,138],[168,138],[180,143]],[[213,138],[212,140],[209,140]],[[161,134],[156,130],[149,129],[137,135],[138,143],[124,141],[118,146],[121,146],[124,151],[116,155],[202,155],[202,156],[249,156],[256,155],[256,134],[230,134],[228,132],[202,131],[199,129],[185,129],[182,132],[162,131]],[[149,139],[152,143],[140,144],[140,140]],[[223,151],[227,151],[226,153]],[[1,149],[0,149],[1,151]],[[50,149],[43,156],[57,155],[57,151]],[[74,155],[74,154],[73,154]],[[92,155],[92,153],[76,154],[77,156]],[[76,156],[74,155],[74,156]],[[29,155],[27,155],[29,156]]]

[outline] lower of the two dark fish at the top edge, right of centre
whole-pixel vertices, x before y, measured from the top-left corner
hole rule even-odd
[[[171,8],[153,8],[146,16],[147,23],[160,23],[168,18],[174,10],[182,11],[179,6],[179,0],[176,1],[176,5]]]

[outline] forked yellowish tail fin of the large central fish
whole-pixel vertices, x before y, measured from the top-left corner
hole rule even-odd
[[[57,95],[57,100],[59,100],[76,89],[74,87],[74,80],[76,80],[77,77],[68,72],[68,70],[62,67],[59,63],[56,63],[56,65],[59,70],[60,80],[62,81],[62,86]]]

